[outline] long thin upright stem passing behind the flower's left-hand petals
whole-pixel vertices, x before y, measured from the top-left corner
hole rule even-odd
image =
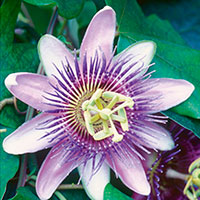
[[[50,19],[48,28],[47,28],[48,34],[53,33],[53,29],[55,27],[57,17],[58,17],[58,8],[55,7],[53,14],[52,14],[52,17]],[[44,68],[43,68],[41,63],[38,66],[37,74],[44,74]],[[31,120],[33,118],[34,112],[35,112],[34,108],[28,106],[25,121]],[[24,155],[21,156],[21,166],[20,166],[19,180],[18,180],[18,183],[17,183],[17,188],[23,187],[26,183],[27,157],[28,157],[27,154],[24,154]]]

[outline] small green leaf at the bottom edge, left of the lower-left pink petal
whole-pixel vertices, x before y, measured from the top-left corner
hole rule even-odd
[[[11,200],[39,200],[39,198],[31,192],[29,187],[20,187],[17,194]]]

